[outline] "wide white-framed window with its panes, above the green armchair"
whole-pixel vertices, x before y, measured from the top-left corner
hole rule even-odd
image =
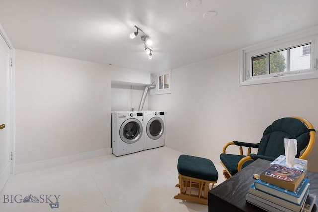
[[[301,34],[301,35],[300,35]],[[240,86],[318,78],[318,28],[240,50]]]

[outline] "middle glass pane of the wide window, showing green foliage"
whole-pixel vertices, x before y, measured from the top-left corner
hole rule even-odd
[[[274,52],[269,54],[269,73],[281,73],[287,71],[286,60],[287,50]]]

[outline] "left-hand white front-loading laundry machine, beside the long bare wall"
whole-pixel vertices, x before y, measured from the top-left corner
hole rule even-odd
[[[114,111],[111,114],[112,152],[116,156],[144,150],[144,116],[140,111]]]

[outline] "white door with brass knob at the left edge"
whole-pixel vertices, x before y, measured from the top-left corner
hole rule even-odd
[[[0,191],[11,173],[11,52],[0,34]]]

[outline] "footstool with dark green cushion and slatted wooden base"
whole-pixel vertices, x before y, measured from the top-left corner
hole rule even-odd
[[[202,157],[180,155],[178,159],[180,193],[175,199],[187,200],[208,205],[210,183],[213,189],[218,180],[218,171],[213,162]]]

